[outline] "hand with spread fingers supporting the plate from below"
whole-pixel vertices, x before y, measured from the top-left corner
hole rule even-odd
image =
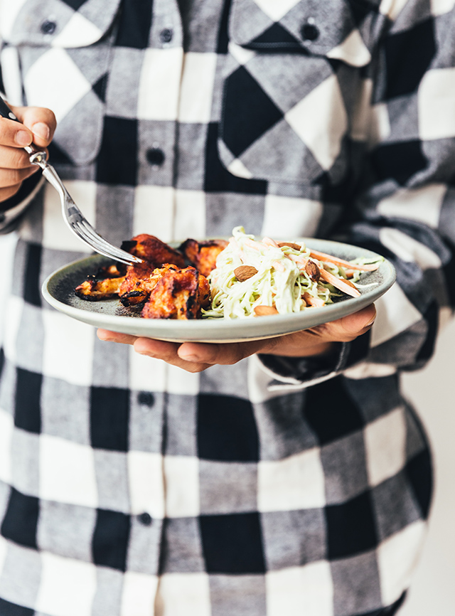
[[[311,329],[297,331],[294,334],[225,344],[207,344],[202,342],[165,342],[149,338],[137,338],[128,334],[98,329],[100,340],[132,344],[134,351],[141,355],[162,359],[173,366],[179,366],[188,372],[202,372],[215,363],[237,363],[255,353],[281,355],[287,357],[309,357],[328,353],[333,343],[348,342],[365,334],[376,317],[374,304],[343,317]],[[257,317],[260,319],[260,317]]]

